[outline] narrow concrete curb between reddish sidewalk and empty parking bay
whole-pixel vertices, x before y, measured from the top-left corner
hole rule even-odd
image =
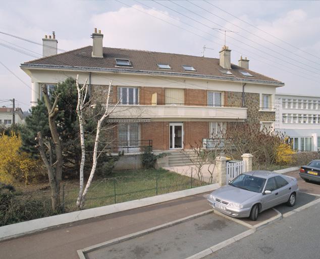
[[[142,230],[142,231],[139,231],[139,232],[135,232],[135,233],[126,235],[126,236],[122,236],[120,238],[115,238],[115,239],[112,239],[112,240],[109,240],[109,241],[106,241],[106,242],[103,242],[103,243],[92,245],[92,246],[77,250],[77,253],[78,253],[80,259],[85,259],[84,253],[91,252],[91,251],[94,251],[94,250],[102,248],[102,247],[114,245],[114,244],[117,244],[117,243],[120,243],[120,242],[124,242],[124,241],[130,240],[132,238],[140,237],[140,236],[143,236],[143,235],[146,235],[146,234],[158,231],[158,230],[169,228],[169,227],[172,227],[174,225],[177,225],[177,224],[189,221],[189,220],[193,220],[193,219],[202,217],[202,216],[204,216],[206,214],[211,213],[212,211],[213,211],[213,209],[208,209],[208,210],[205,210],[205,211],[190,215],[188,217],[185,217],[185,218],[182,218],[182,219],[179,219],[179,220],[176,220],[176,221],[171,221],[171,222],[168,222],[168,223],[165,223],[165,224],[162,224],[162,225],[158,225],[158,226],[146,229],[146,230]]]

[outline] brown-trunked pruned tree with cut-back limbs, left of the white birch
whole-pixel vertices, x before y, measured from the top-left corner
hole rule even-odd
[[[61,146],[61,141],[60,141],[59,133],[57,130],[57,124],[56,124],[57,123],[56,118],[59,113],[59,108],[57,104],[58,104],[60,94],[58,94],[54,98],[54,103],[51,104],[46,85],[42,85],[42,93],[43,93],[45,106],[48,112],[48,122],[49,122],[49,129],[51,133],[52,143],[51,143],[51,140],[43,139],[41,131],[39,131],[37,134],[37,141],[38,141],[40,156],[47,169],[47,174],[49,178],[49,184],[51,189],[52,210],[57,211],[61,209],[60,182],[62,179],[62,169],[63,169],[62,146]],[[47,153],[49,154],[49,157],[47,157]]]

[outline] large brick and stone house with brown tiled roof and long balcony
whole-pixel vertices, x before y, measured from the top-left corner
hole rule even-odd
[[[220,58],[206,58],[106,48],[96,29],[91,37],[93,46],[61,54],[55,35],[43,38],[44,57],[21,64],[31,77],[32,104],[42,84],[50,88],[77,74],[80,83],[88,78],[90,95],[102,102],[112,79],[113,104],[120,104],[109,121],[120,123],[113,138],[128,151],[188,148],[235,121],[274,125],[276,89],[284,83],[249,70],[247,58],[231,64],[227,46]]]

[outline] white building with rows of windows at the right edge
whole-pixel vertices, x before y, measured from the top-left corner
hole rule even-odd
[[[320,96],[276,94],[275,130],[299,151],[320,150]]]

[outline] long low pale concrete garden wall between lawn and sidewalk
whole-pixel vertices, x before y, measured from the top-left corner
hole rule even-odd
[[[120,211],[125,211],[134,208],[140,208],[152,204],[162,203],[165,201],[175,200],[179,198],[184,198],[187,196],[192,196],[204,192],[210,192],[220,188],[219,184],[211,184],[201,187],[196,187],[188,190],[172,192],[152,197],[147,197],[139,200],[126,201],[122,203],[84,209],[80,211],[74,211],[64,214],[59,214],[51,217],[45,217],[41,219],[20,222],[16,224],[11,224],[7,226],[0,227],[0,241],[11,239],[26,234],[35,233],[38,231],[46,230],[52,227],[57,227],[60,225],[77,222],[81,220],[86,220],[90,218],[96,218],[103,215],[108,215]]]

